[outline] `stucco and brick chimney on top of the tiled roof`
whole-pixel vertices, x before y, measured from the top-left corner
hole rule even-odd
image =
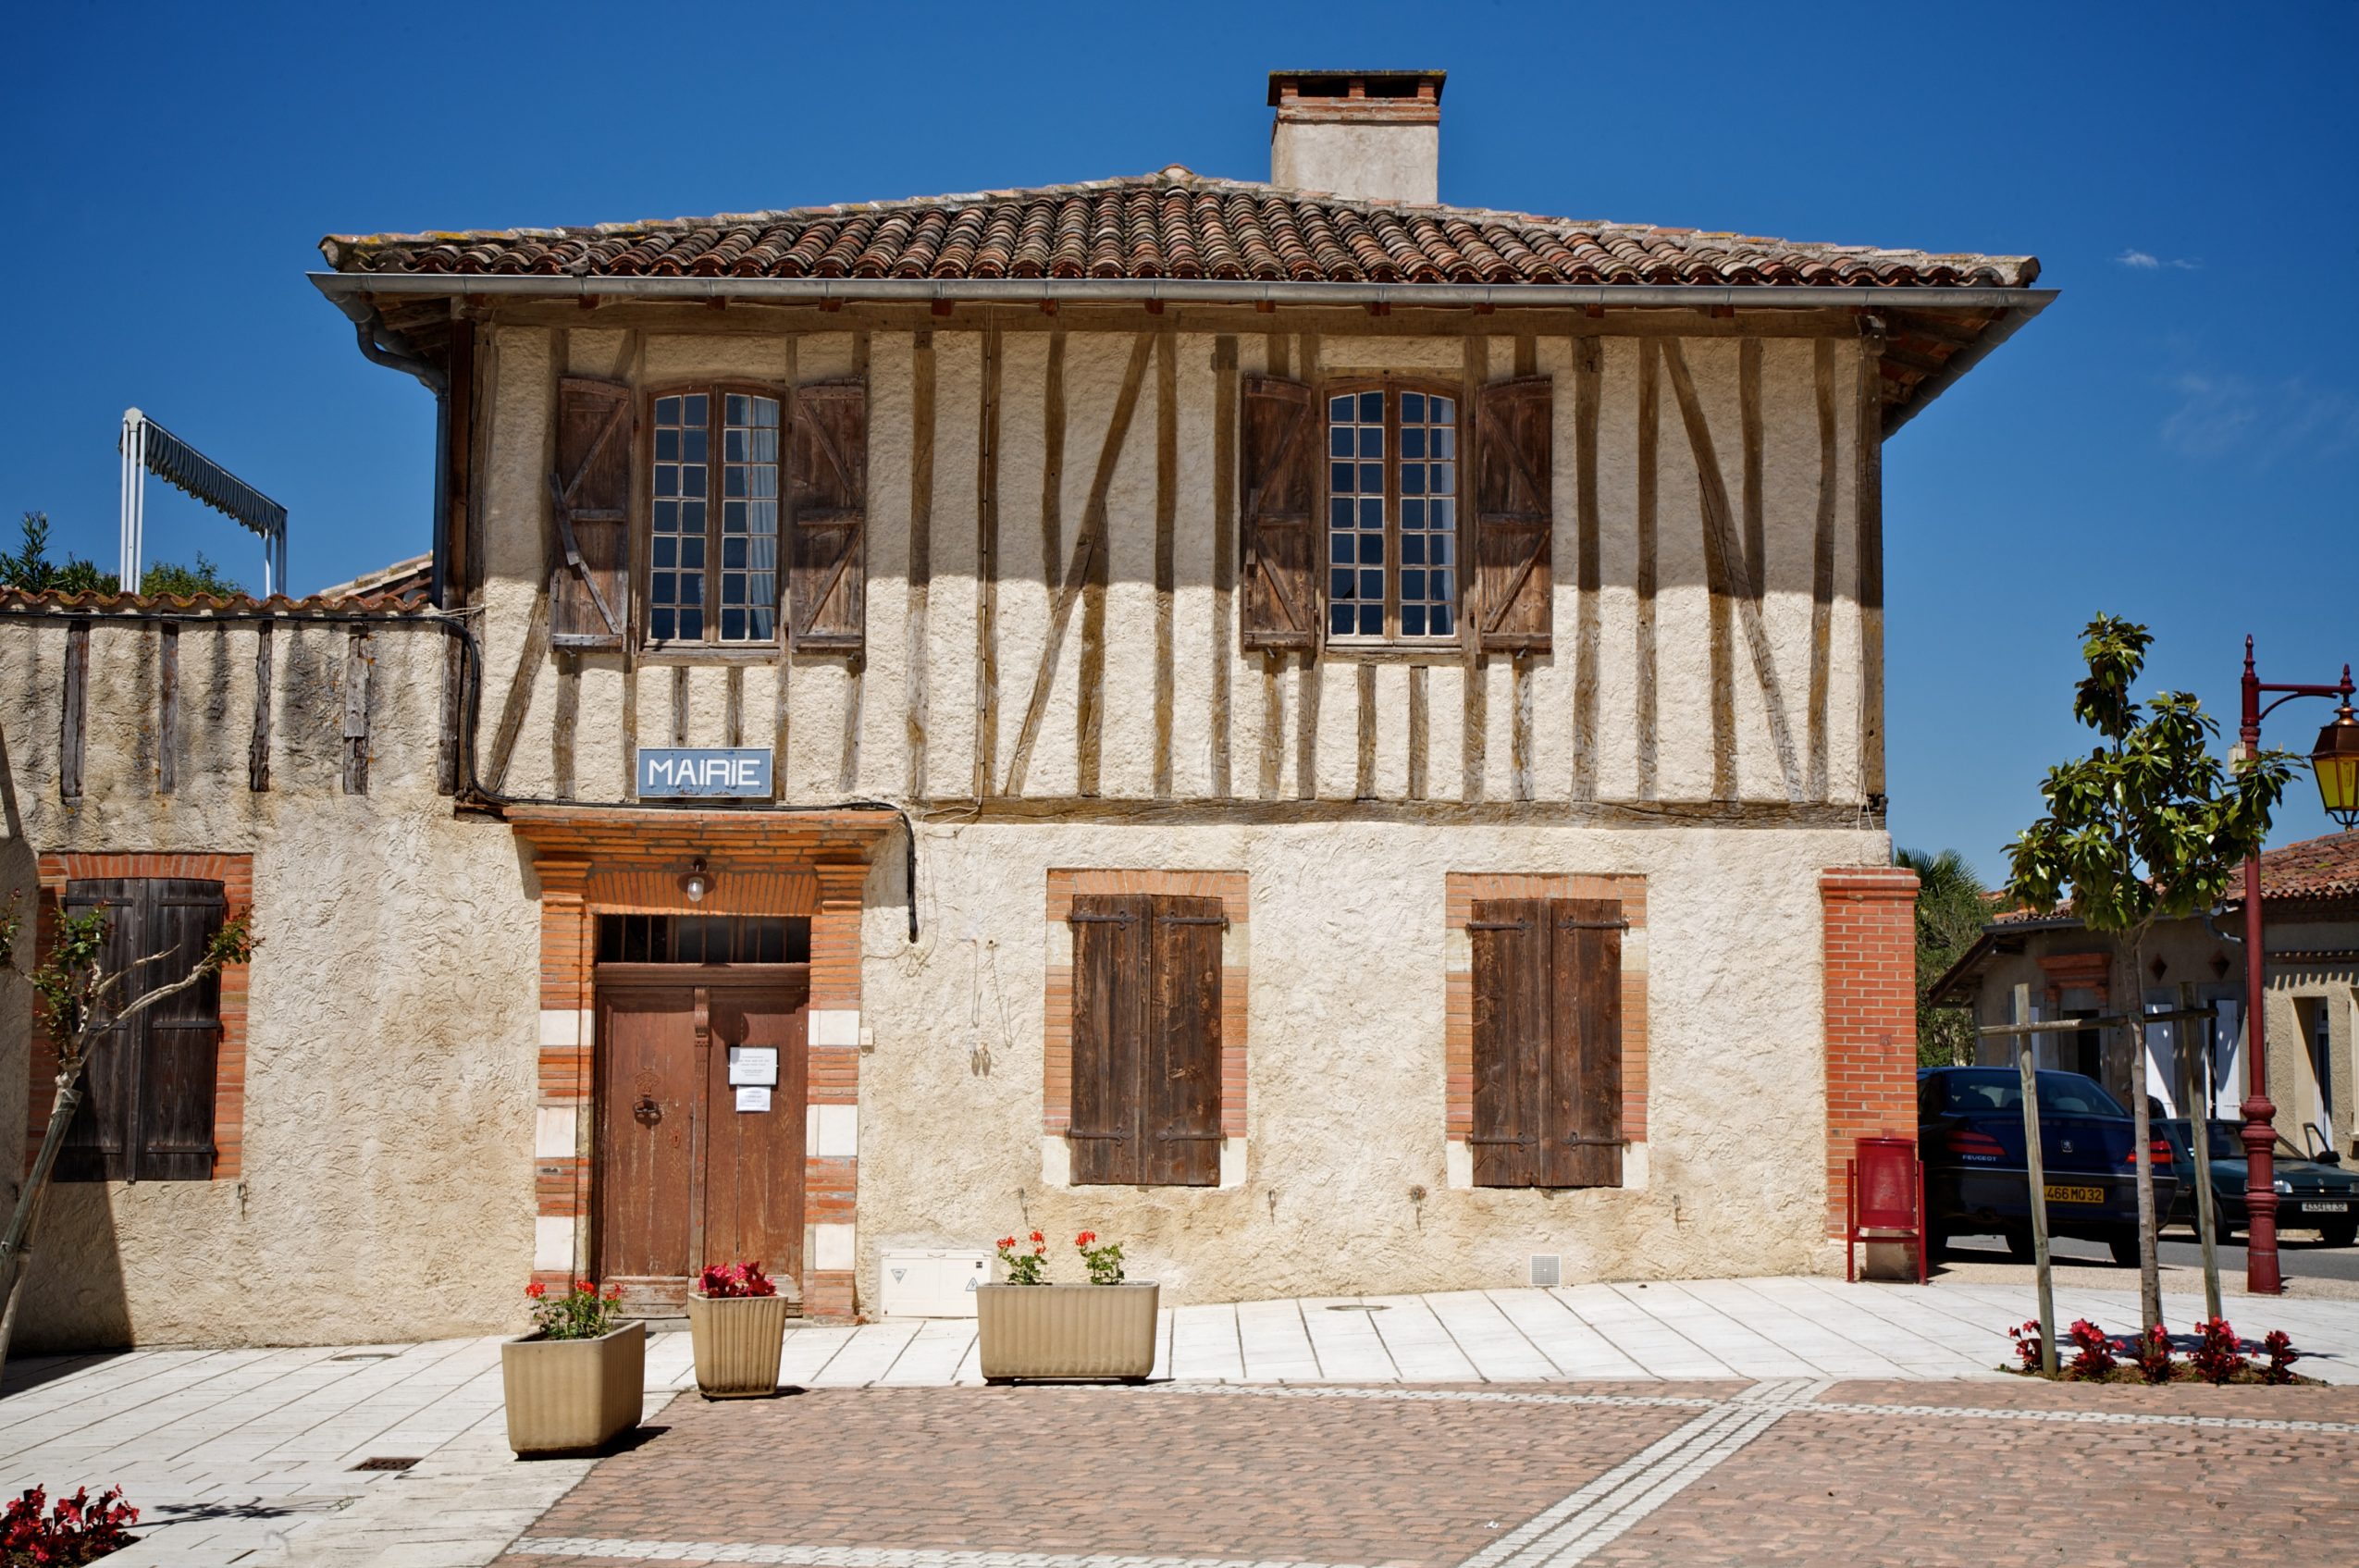
[[[1439,200],[1441,71],[1272,71],[1269,182]]]

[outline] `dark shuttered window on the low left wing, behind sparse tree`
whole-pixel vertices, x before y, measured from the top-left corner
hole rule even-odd
[[[189,974],[222,929],[219,882],[104,877],[66,884],[64,913],[106,910],[109,974],[132,969],[137,997]],[[153,955],[156,962],[142,964]],[[83,1106],[59,1148],[59,1181],[210,1181],[212,1096],[222,1042],[222,979],[165,997],[92,1035]]]

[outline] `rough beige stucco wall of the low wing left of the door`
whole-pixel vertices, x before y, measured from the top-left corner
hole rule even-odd
[[[255,856],[245,1162],[229,1181],[59,1184],[17,1344],[356,1342],[517,1318],[531,1264],[538,920],[502,823],[434,792],[443,648],[373,637],[370,792],[344,795],[344,630],[276,632],[274,788],[245,788],[252,632],[182,632],[179,792],[156,792],[156,632],[90,637],[85,799],[59,799],[66,634],[0,634],[31,851]],[[28,962],[31,955],[26,955]],[[0,997],[0,1106],[31,995]],[[24,1115],[5,1120],[7,1191]]]

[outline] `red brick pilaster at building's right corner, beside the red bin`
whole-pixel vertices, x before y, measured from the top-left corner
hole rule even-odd
[[[1916,1137],[1916,872],[1819,872],[1826,922],[1826,1233],[1842,1236],[1852,1139]]]

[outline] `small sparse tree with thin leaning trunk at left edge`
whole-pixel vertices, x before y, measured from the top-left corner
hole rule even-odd
[[[189,974],[149,986],[125,1000],[125,988],[142,969],[158,964],[170,953],[149,953],[120,969],[106,967],[106,905],[85,915],[66,915],[57,922],[57,946],[47,962],[28,976],[33,995],[40,1000],[42,1023],[57,1045],[57,1092],[50,1099],[50,1132],[33,1155],[33,1172],[17,1188],[17,1210],[7,1231],[0,1233],[0,1361],[7,1358],[5,1325],[12,1320],[9,1306],[24,1278],[24,1259],[33,1245],[33,1221],[40,1217],[40,1200],[50,1191],[50,1174],[57,1170],[57,1153],[66,1144],[66,1127],[83,1106],[83,1073],[90,1068],[90,1042],[109,1028],[137,1019],[149,1007],[198,986],[224,964],[243,964],[255,953],[255,936],[245,915],[236,915],[212,934],[205,953],[189,967]],[[17,974],[17,943],[24,936],[24,917],[14,898],[0,908],[0,979]]]

